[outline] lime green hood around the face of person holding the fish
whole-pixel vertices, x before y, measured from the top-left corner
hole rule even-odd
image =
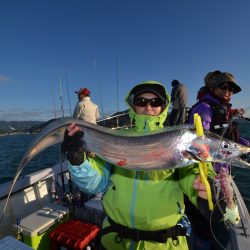
[[[157,115],[157,116],[136,114],[133,107],[132,107],[131,101],[130,101],[131,92],[133,91],[133,89],[135,87],[137,87],[139,85],[155,85],[155,84],[160,85],[164,88],[166,98],[167,98],[166,106],[163,108],[161,114]],[[163,123],[167,118],[168,108],[169,108],[169,104],[170,104],[170,96],[169,96],[165,86],[159,82],[150,80],[150,81],[138,83],[135,87],[132,90],[130,90],[130,92],[128,93],[128,95],[125,98],[125,102],[127,103],[128,107],[129,107],[130,119],[135,121],[135,129],[137,131],[141,132],[141,131],[152,131],[152,130],[156,130],[159,128],[163,128],[163,126],[164,126]]]

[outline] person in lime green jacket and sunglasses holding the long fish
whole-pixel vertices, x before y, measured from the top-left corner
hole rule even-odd
[[[135,127],[131,128],[134,133],[163,128],[170,97],[161,83],[139,83],[125,101],[130,118],[135,121]],[[186,236],[191,233],[191,225],[185,215],[184,194],[198,209],[202,207],[204,214],[209,213],[198,165],[178,170],[129,170],[111,165],[98,155],[88,158],[82,139],[84,133],[80,127],[69,125],[62,152],[81,191],[104,193],[102,202],[107,218],[101,232],[102,246],[110,250],[188,249]],[[208,169],[208,175],[215,176],[212,168]]]

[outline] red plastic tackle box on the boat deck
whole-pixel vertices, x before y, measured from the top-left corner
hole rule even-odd
[[[66,249],[82,250],[93,241],[100,228],[97,225],[80,220],[68,220],[51,231],[50,249],[64,247]]]

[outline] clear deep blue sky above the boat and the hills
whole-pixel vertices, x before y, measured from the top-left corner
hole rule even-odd
[[[241,0],[1,0],[0,120],[61,116],[59,78],[65,116],[80,87],[112,114],[150,79],[185,83],[192,105],[217,69],[235,75],[232,103],[250,116],[249,13]]]

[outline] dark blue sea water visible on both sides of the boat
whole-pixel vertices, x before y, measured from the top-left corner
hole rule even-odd
[[[250,123],[240,124],[242,137],[250,138]],[[17,166],[35,135],[0,136],[0,183],[12,180]],[[55,145],[37,155],[23,170],[22,175],[51,167],[59,161],[59,146]],[[233,169],[234,180],[250,211],[250,169]]]

